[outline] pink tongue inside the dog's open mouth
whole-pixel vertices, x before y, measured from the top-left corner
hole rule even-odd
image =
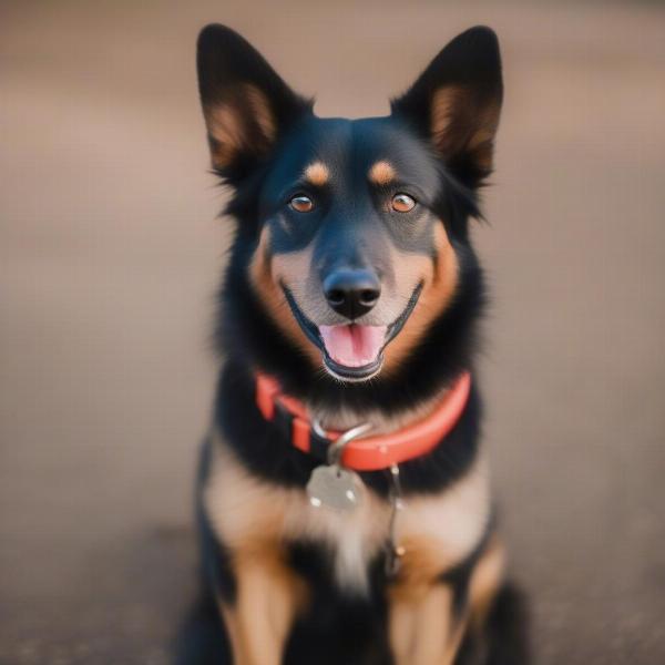
[[[374,362],[386,341],[387,326],[321,326],[319,331],[328,356],[345,367]]]

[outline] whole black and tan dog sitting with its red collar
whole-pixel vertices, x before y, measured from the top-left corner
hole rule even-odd
[[[471,378],[494,33],[354,121],[317,117],[227,28],[197,63],[236,234],[197,494],[218,613],[183,662],[522,663]]]

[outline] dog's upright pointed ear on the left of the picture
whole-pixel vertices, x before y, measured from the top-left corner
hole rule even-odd
[[[265,160],[311,102],[295,94],[237,32],[206,25],[198,35],[198,90],[214,170],[229,182]]]

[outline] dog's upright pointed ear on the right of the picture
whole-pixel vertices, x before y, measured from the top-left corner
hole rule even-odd
[[[391,106],[454,175],[478,186],[492,171],[502,96],[499,41],[490,28],[477,27],[456,37]]]

